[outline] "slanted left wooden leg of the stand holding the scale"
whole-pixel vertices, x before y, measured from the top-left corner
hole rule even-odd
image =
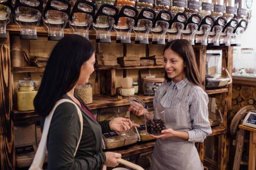
[[[241,158],[242,158],[242,153],[243,153],[244,131],[245,131],[244,129],[238,130],[233,170],[240,169],[240,163],[241,163]]]

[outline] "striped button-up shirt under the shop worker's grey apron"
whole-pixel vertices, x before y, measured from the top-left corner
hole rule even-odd
[[[187,78],[180,82],[174,83],[166,82],[161,85],[154,96],[154,107],[158,96],[164,95],[160,98],[160,103],[163,107],[180,107],[182,96],[185,92],[185,87],[189,80]],[[208,95],[197,85],[192,85],[187,96],[187,108],[189,108],[189,115],[191,119],[192,130],[187,131],[189,134],[189,142],[203,142],[205,138],[212,133],[210,122],[208,120]]]

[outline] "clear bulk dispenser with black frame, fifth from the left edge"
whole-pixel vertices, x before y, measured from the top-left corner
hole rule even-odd
[[[103,4],[97,11],[93,20],[93,29],[96,31],[96,42],[111,42],[111,30],[117,20],[118,8]]]

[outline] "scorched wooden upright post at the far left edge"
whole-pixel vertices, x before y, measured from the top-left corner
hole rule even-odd
[[[0,39],[0,169],[15,168],[12,121],[12,87],[10,72],[10,39]]]

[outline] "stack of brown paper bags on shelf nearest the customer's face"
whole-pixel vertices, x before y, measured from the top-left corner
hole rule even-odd
[[[96,64],[97,68],[104,67],[104,68],[113,68],[119,67],[117,62],[117,57],[115,54],[112,53],[97,53],[96,54]]]

